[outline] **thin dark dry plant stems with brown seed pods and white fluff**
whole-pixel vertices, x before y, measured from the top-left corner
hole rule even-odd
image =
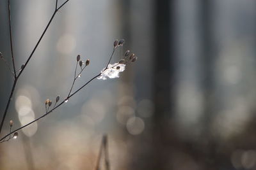
[[[65,1],[64,3],[58,4],[58,0],[56,0],[54,2],[55,4],[55,10],[52,13],[52,17],[49,20],[48,24],[46,25],[42,35],[40,36],[40,38],[38,39],[35,47],[33,48],[31,54],[29,55],[28,59],[26,60],[26,62],[24,64],[21,64],[20,69],[17,69],[17,67],[15,67],[15,57],[13,54],[13,42],[12,42],[12,24],[11,24],[11,16],[10,16],[10,0],[8,0],[8,23],[9,23],[9,33],[10,33],[10,50],[11,50],[11,54],[12,54],[12,64],[8,63],[8,60],[6,60],[3,55],[3,53],[0,52],[0,58],[1,60],[4,61],[4,63],[6,64],[6,66],[8,67],[8,69],[10,70],[10,72],[12,73],[13,76],[13,85],[12,85],[12,90],[10,92],[10,96],[8,98],[8,102],[6,104],[6,108],[4,110],[3,113],[3,118],[1,119],[1,125],[0,125],[0,134],[1,131],[3,129],[3,124],[4,124],[4,120],[6,118],[6,115],[8,113],[8,109],[10,106],[10,103],[12,101],[12,96],[13,96],[13,92],[15,91],[15,87],[17,85],[17,82],[20,78],[20,75],[23,73],[24,69],[28,66],[29,60],[31,59],[31,57],[33,57],[33,54],[35,53],[35,50],[38,48],[38,45],[40,44],[40,42],[42,41],[42,38],[45,35],[45,32],[47,31],[47,29],[49,28],[49,26],[51,25],[51,22],[54,18],[54,16],[56,15],[57,11],[61,10],[61,8],[63,8],[63,6],[65,6],[65,4],[68,3],[69,0]],[[68,100],[74,96],[75,94],[77,94],[77,92],[79,92],[81,89],[83,89],[84,87],[86,87],[86,85],[88,85],[88,83],[90,83],[92,80],[97,79],[102,79],[102,80],[106,80],[106,78],[117,78],[119,76],[119,73],[124,71],[126,64],[130,63],[130,62],[135,62],[137,60],[137,57],[134,55],[134,53],[131,53],[129,50],[127,50],[124,53],[124,56],[122,54],[122,59],[119,62],[116,62],[115,64],[110,64],[111,59],[114,55],[114,53],[116,52],[116,49],[118,47],[123,48],[124,45],[124,39],[121,40],[115,40],[113,43],[113,52],[111,53],[108,63],[106,64],[106,67],[104,67],[104,69],[102,69],[102,71],[100,71],[100,73],[96,74],[95,76],[93,76],[90,80],[88,80],[86,83],[84,83],[84,85],[82,85],[81,87],[79,87],[79,89],[74,90],[73,92],[73,87],[74,84],[77,81],[77,78],[79,78],[81,76],[81,73],[84,71],[84,69],[89,66],[90,64],[90,60],[82,60],[80,55],[77,55],[76,57],[76,69],[74,71],[74,79],[72,81],[72,85],[70,87],[70,90],[68,91],[67,96],[63,97],[63,99],[61,100],[60,96],[57,96],[54,101],[52,101],[51,99],[46,99],[45,101],[45,113],[41,116],[36,118],[35,120],[29,122],[26,125],[23,125],[22,127],[19,127],[17,129],[12,130],[12,126],[13,126],[13,121],[10,120],[10,132],[6,135],[4,135],[3,137],[0,138],[0,142],[3,143],[5,141],[9,141],[12,138],[17,138],[18,137],[18,131],[20,129],[23,129],[24,127],[27,127],[28,125],[33,124],[34,122],[40,120],[41,118],[44,118],[45,116],[49,115],[50,113],[52,113],[52,111],[56,110],[57,108],[59,108],[62,104],[67,103]],[[54,103],[54,104],[53,104]],[[106,167],[107,169],[109,169],[109,161],[108,161],[108,150],[107,148],[107,137],[103,136],[102,139],[102,146],[100,148],[104,148],[105,150],[105,159],[106,159]],[[100,155],[101,155],[102,149],[100,149]],[[101,156],[100,156],[101,157]]]

